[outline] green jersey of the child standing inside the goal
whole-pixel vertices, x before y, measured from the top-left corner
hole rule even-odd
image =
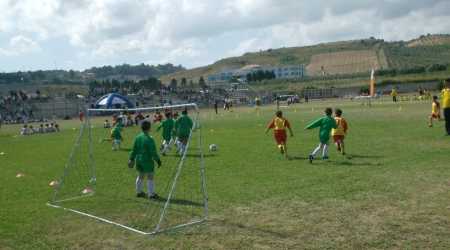
[[[148,134],[141,132],[136,136],[130,160],[136,161],[136,169],[141,173],[153,173],[155,161],[159,162],[155,140]]]

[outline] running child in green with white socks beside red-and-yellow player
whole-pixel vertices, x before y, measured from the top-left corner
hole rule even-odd
[[[328,159],[328,142],[330,141],[330,132],[333,128],[337,128],[336,121],[331,117],[333,110],[325,109],[325,116],[311,122],[305,129],[313,129],[319,127],[319,145],[309,155],[309,162],[312,163],[316,154],[322,150],[322,159]]]

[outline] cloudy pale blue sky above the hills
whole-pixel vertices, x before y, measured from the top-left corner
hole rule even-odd
[[[0,72],[172,63],[450,33],[449,0],[0,0]]]

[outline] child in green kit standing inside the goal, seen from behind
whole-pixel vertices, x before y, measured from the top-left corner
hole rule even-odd
[[[149,135],[150,121],[144,120],[141,123],[142,132],[134,139],[133,149],[128,160],[128,167],[136,166],[138,176],[136,178],[136,196],[145,198],[148,195],[150,199],[158,199],[159,196],[155,193],[155,186],[153,183],[153,176],[155,173],[155,162],[158,167],[161,167],[161,160],[156,151],[155,140]],[[142,184],[144,178],[147,177],[147,191],[145,194],[142,191]]]

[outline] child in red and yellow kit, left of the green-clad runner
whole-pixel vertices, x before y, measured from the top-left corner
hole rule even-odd
[[[289,121],[283,118],[283,112],[277,111],[275,115],[276,115],[275,118],[273,118],[272,121],[267,126],[266,134],[267,132],[269,132],[270,129],[273,129],[273,136],[277,143],[278,149],[280,150],[280,153],[284,154],[284,156],[288,158],[286,147],[286,140],[287,140],[286,128],[289,129],[291,137],[294,136],[294,133],[292,133]]]

